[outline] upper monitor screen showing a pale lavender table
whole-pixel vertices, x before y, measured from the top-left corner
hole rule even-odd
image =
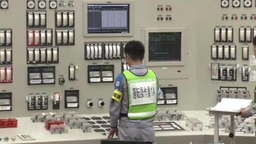
[[[129,33],[129,4],[87,4],[87,32]]]

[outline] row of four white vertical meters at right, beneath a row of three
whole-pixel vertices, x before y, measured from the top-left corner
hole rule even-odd
[[[236,45],[212,45],[212,60],[236,60]]]

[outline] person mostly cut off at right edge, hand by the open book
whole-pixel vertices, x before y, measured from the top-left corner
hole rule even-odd
[[[254,52],[254,56],[256,58],[256,36],[253,37],[253,52]],[[248,118],[250,116],[252,116],[253,114],[256,113],[256,103],[253,105],[252,108],[243,108],[241,109],[241,115],[244,118]]]

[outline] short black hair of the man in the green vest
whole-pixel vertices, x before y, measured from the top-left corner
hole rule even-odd
[[[125,45],[124,53],[129,55],[134,61],[142,61],[144,58],[145,47],[140,41],[132,40]]]

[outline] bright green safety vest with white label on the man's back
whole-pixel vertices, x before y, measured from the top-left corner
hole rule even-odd
[[[148,69],[145,76],[136,76],[125,70],[127,79],[129,110],[127,117],[132,120],[152,118],[156,115],[158,82],[156,74]]]

